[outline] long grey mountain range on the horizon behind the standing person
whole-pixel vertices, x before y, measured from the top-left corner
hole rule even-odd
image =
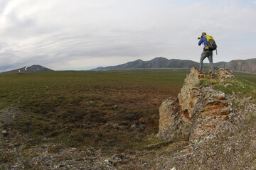
[[[206,59],[207,60],[207,59]],[[164,57],[156,57],[150,61],[135,60],[134,62],[127,62],[117,66],[97,67],[92,70],[106,70],[106,69],[152,69],[152,68],[182,68],[189,69],[191,67],[198,67],[198,62],[191,60],[166,59]],[[237,72],[252,72],[256,73],[256,58],[248,60],[232,60],[230,62],[216,62],[215,67],[227,68]],[[210,68],[209,63],[203,63],[203,69]]]

